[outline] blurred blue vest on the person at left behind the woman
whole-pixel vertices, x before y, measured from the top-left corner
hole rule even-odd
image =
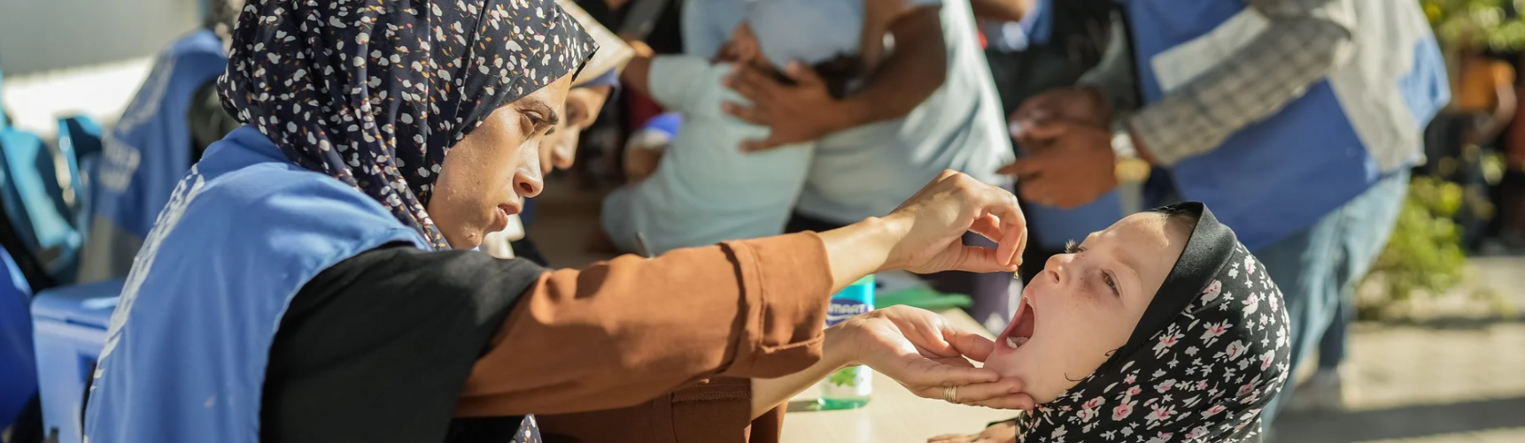
[[[82,282],[120,277],[148,236],[169,192],[191,167],[186,113],[197,88],[223,73],[227,56],[210,30],[197,30],[159,55],[122,119],[105,134],[96,166],[95,219],[81,268]],[[130,236],[122,242],[113,236]],[[93,260],[105,260],[101,263]]]

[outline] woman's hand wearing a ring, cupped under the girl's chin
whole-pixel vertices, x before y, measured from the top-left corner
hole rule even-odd
[[[909,306],[891,306],[849,318],[834,327],[848,332],[849,364],[863,364],[927,399],[997,410],[1031,410],[1022,382],[978,368],[994,343],[956,329],[941,315]],[[955,387],[949,390],[949,387]]]

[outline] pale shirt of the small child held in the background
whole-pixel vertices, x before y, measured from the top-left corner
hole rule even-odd
[[[683,114],[677,135],[647,180],[604,201],[604,230],[616,245],[644,253],[776,236],[810,171],[811,145],[741,152],[741,142],[769,129],[730,117],[723,102],[749,104],[723,87],[729,64],[698,56],[657,56],[651,97]]]

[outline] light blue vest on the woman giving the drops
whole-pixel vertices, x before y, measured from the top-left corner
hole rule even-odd
[[[90,391],[93,443],[256,443],[270,344],[317,272],[390,242],[380,202],[296,166],[253,126],[169,195],[127,277]]]

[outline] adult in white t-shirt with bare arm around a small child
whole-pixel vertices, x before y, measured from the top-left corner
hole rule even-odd
[[[824,230],[884,215],[915,193],[918,181],[944,169],[991,184],[1008,183],[994,171],[1014,158],[1011,139],[970,0],[863,2],[859,53],[866,76],[849,84],[845,97],[833,97],[827,84],[799,62],[787,65],[785,79],[758,69],[738,69],[729,79],[729,87],[750,104],[730,104],[727,113],[769,128],[767,137],[741,149],[816,142],[785,231]],[[714,56],[741,20],[741,3],[689,2],[683,11],[685,50]],[[1020,17],[1022,11],[1008,14]],[[795,37],[808,41],[813,35],[799,29]],[[973,294],[967,274],[929,277],[939,291],[974,295],[974,318],[1008,317],[1011,274],[997,276],[1000,283],[991,294]]]

